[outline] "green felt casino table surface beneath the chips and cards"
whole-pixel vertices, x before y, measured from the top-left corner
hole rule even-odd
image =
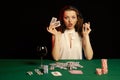
[[[50,63],[79,62],[83,74],[70,74],[68,70],[49,69]],[[93,60],[43,60],[48,65],[48,74],[38,75],[34,69],[40,66],[40,59],[0,59],[0,80],[120,80],[120,59],[107,59],[108,73],[97,75],[96,68],[101,68],[101,59]],[[28,71],[33,71],[28,75]],[[62,76],[53,76],[51,72],[59,71]]]

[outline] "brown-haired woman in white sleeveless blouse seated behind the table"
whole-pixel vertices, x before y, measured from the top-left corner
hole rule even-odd
[[[47,27],[47,31],[52,34],[53,59],[82,59],[83,50],[85,58],[91,60],[90,22],[83,24],[81,13],[73,6],[65,6],[61,10],[59,21],[53,18]]]

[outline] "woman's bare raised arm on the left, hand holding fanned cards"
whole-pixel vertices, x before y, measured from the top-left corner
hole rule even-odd
[[[56,30],[56,27],[59,27],[60,21],[57,21],[57,18],[52,18],[49,27],[47,27],[47,31],[52,34],[52,56],[53,59],[58,61],[60,59],[60,32]]]

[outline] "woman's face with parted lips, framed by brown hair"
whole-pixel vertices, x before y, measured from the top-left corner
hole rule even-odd
[[[73,10],[67,10],[63,14],[63,20],[67,29],[74,29],[77,23],[77,15]]]

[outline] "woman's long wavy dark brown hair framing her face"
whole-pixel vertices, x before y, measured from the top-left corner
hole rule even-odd
[[[67,5],[61,9],[60,14],[59,14],[59,20],[61,22],[61,26],[58,27],[58,30],[60,30],[63,33],[66,29],[66,26],[65,26],[64,20],[63,20],[63,15],[64,15],[65,11],[75,11],[76,12],[78,21],[75,25],[75,31],[77,31],[79,33],[79,35],[82,36],[83,17],[82,17],[82,14],[78,11],[78,9],[76,9],[73,6]]]

